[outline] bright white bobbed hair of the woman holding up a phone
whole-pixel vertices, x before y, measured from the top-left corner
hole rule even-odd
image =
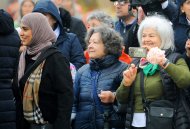
[[[146,17],[140,24],[138,30],[138,41],[142,46],[142,33],[146,28],[152,28],[157,31],[161,39],[161,49],[175,49],[174,46],[174,31],[172,23],[165,17],[160,15],[153,15]]]

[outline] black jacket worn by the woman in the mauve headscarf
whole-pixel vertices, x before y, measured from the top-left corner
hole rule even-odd
[[[69,62],[60,52],[55,52],[47,57],[49,50],[43,52],[32,66],[27,68],[20,81],[20,87],[23,92],[26,79],[34,70],[31,69],[36,68],[43,61],[39,61],[39,59],[45,57],[46,61],[39,87],[39,106],[43,118],[53,124],[53,129],[70,129],[73,83]],[[38,61],[39,63],[36,63]],[[34,65],[36,66],[34,67]],[[24,123],[24,126],[28,128],[28,123]]]

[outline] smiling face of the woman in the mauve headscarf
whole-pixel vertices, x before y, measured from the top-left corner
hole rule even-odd
[[[23,46],[29,46],[32,41],[32,30],[21,24],[20,39]]]

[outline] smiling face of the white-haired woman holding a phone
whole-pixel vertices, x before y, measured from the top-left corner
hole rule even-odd
[[[144,48],[160,48],[162,42],[158,32],[153,28],[145,28],[142,32],[141,40]]]

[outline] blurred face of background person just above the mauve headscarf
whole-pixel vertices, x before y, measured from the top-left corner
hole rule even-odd
[[[24,4],[21,7],[22,15],[24,16],[28,13],[31,13],[33,9],[34,9],[34,5],[32,2],[30,2],[30,1],[24,2]]]

